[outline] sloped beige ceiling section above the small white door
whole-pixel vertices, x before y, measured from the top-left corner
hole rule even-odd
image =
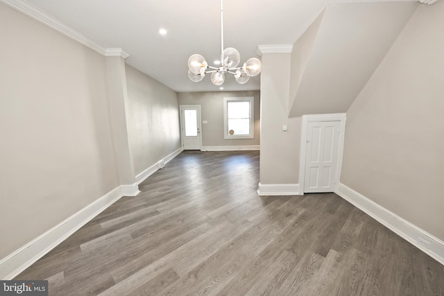
[[[418,2],[327,6],[294,44],[289,117],[345,112]]]

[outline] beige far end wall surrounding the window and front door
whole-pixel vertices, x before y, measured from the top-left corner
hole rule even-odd
[[[223,98],[255,97],[255,138],[223,139]],[[202,120],[202,146],[255,146],[260,143],[259,92],[186,92],[179,93],[179,105],[200,105]]]

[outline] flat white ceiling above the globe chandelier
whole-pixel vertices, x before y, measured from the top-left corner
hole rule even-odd
[[[388,2],[390,0],[382,0]],[[378,2],[382,2],[381,0]],[[393,0],[392,0],[393,1]],[[126,62],[176,92],[214,92],[210,77],[192,82],[187,60],[200,53],[214,65],[221,54],[219,0],[28,0],[105,48],[122,48]],[[330,3],[340,0],[225,0],[224,46],[241,63],[258,45],[294,44]],[[167,35],[160,35],[160,28]],[[259,90],[260,75],[239,85],[227,76],[223,91]]]

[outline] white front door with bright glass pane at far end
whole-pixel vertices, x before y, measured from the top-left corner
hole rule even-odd
[[[180,106],[180,134],[183,150],[200,150],[200,105]]]

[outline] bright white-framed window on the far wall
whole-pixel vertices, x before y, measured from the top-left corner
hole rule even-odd
[[[225,139],[253,139],[255,98],[223,98]]]

